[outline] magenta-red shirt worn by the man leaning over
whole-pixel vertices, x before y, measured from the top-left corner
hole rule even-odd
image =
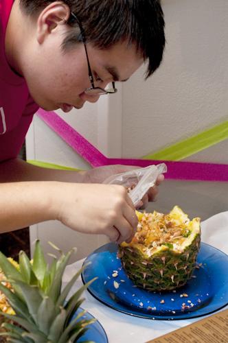
[[[38,105],[25,79],[16,75],[5,58],[5,30],[13,0],[0,3],[0,162],[15,158],[25,140]]]

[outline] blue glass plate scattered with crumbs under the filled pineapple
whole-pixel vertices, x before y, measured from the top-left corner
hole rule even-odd
[[[228,256],[201,243],[197,268],[192,279],[176,291],[148,292],[135,287],[117,257],[117,245],[105,244],[84,263],[82,272],[87,283],[98,276],[88,291],[100,302],[130,316],[148,319],[177,320],[212,314],[228,304]]]

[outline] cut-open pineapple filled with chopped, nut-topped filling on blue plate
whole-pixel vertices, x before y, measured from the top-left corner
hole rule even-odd
[[[190,220],[174,206],[168,214],[140,213],[137,232],[119,246],[128,277],[148,291],[169,291],[191,278],[200,247],[200,218]]]

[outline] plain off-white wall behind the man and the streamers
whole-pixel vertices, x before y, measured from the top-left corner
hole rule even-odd
[[[61,114],[106,156],[140,158],[227,119],[228,1],[162,3],[167,45],[155,75],[144,82],[142,68],[127,83],[117,85],[116,95],[101,97],[98,104],[87,104],[69,115]],[[186,160],[228,163],[227,151],[228,140]],[[89,167],[38,118],[27,136],[27,158]],[[149,210],[169,211],[179,204],[190,216],[205,219],[227,211],[227,194],[224,182],[167,180]],[[106,241],[73,233],[56,222],[32,228],[31,239],[36,236],[63,249],[78,246],[78,258]]]

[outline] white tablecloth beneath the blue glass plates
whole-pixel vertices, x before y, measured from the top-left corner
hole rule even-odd
[[[202,222],[201,228],[202,241],[223,250],[228,254],[228,211],[219,213],[210,217],[208,220],[205,220]],[[63,278],[63,285],[71,279],[73,274],[76,273],[76,270],[80,268],[83,261],[84,260],[80,260],[67,266]],[[79,278],[73,286],[71,293],[75,292],[81,285],[82,280]],[[109,343],[143,343],[202,319],[201,317],[190,320],[167,321],[137,318],[122,314],[103,305],[87,291],[84,292],[83,297],[85,300],[84,303],[82,303],[82,307],[87,309],[89,313],[100,321],[106,331]],[[228,306],[225,308],[228,308]]]

